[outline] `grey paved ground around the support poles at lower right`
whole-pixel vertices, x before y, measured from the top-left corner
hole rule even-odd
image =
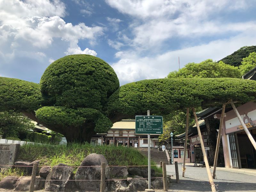
[[[185,178],[182,177],[181,164],[178,167],[180,183],[176,183],[176,177],[173,176],[173,183],[168,191],[211,191],[205,167],[186,166]],[[175,174],[174,165],[167,165],[166,170],[169,175]],[[216,170],[216,176],[214,183],[220,192],[256,191],[256,176],[220,170]]]

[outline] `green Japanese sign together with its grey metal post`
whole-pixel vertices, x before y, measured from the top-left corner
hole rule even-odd
[[[135,116],[135,133],[148,134],[148,189],[151,189],[151,162],[150,162],[150,134],[163,134],[163,117],[150,116]]]

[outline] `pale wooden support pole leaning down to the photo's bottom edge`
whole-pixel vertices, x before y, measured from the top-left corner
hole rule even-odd
[[[206,153],[205,153],[204,140],[202,138],[200,127],[199,127],[199,124],[198,124],[195,108],[192,108],[192,110],[193,110],[195,121],[196,121],[196,128],[197,128],[198,136],[199,136],[199,139],[200,139],[200,144],[201,144],[201,148],[202,148],[202,152],[203,152],[203,156],[204,156],[204,163],[205,163],[206,171],[207,171],[207,174],[208,174],[208,179],[209,179],[212,191],[215,192],[216,188],[215,188],[215,184],[214,184],[213,179],[212,179],[212,174],[211,174],[210,166],[209,166],[208,159],[207,159],[207,156],[206,156]]]

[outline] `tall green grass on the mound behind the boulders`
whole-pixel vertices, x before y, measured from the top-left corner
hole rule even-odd
[[[25,144],[20,146],[18,159],[26,161],[40,160],[40,166],[54,166],[59,163],[68,166],[79,166],[84,158],[97,153],[104,155],[109,165],[148,165],[147,157],[140,154],[134,148],[127,148],[114,145],[96,145],[89,143],[72,143],[69,145],[51,145],[51,144]],[[151,165],[155,165],[151,161]],[[152,166],[156,172],[161,172],[161,168]]]

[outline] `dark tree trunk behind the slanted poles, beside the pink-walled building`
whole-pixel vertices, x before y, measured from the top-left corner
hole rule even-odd
[[[205,125],[207,128],[207,144],[210,150],[207,151],[209,153],[209,165],[213,165],[214,163],[214,156],[215,156],[215,150],[216,150],[216,129],[220,126],[220,121],[218,119],[214,119],[213,117],[209,117],[204,119]]]

